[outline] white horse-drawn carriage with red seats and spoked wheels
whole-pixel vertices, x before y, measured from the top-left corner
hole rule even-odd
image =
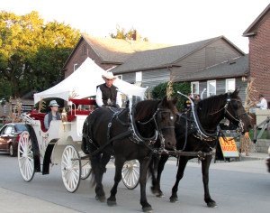
[[[71,104],[93,105],[94,100],[70,99]],[[18,144],[18,162],[24,181],[31,181],[35,172],[49,174],[54,164],[61,165],[63,183],[69,192],[75,192],[80,180],[90,175],[89,158],[81,150],[82,129],[91,111],[72,110],[61,120],[52,120],[49,130],[43,126],[45,114],[24,114],[28,128],[21,134]],[[113,159],[111,160],[113,162]],[[128,189],[139,183],[139,162],[126,162],[122,169],[122,181]]]

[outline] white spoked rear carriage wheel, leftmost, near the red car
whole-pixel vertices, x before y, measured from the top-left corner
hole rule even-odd
[[[35,172],[31,138],[27,131],[24,131],[19,139],[18,162],[23,180],[27,182],[31,181]]]

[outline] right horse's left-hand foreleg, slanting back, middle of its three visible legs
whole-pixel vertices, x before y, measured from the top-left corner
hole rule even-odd
[[[181,179],[184,176],[184,169],[186,166],[186,163],[188,162],[188,157],[180,157],[180,161],[179,161],[179,165],[178,165],[178,170],[177,170],[177,174],[176,174],[176,181],[175,181],[175,185],[172,189],[172,196],[170,197],[170,201],[172,203],[178,201],[178,197],[177,197],[177,190],[178,190],[178,184],[179,181],[181,181]]]

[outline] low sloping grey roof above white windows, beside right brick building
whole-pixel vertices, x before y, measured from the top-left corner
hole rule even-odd
[[[234,60],[222,62],[218,65],[211,66],[206,69],[201,69],[194,72],[192,75],[187,75],[177,79],[177,81],[196,81],[209,79],[228,79],[247,76],[248,68],[248,54],[238,57]]]

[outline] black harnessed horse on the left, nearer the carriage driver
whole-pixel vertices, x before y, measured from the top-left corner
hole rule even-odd
[[[88,144],[96,199],[105,201],[102,179],[111,155],[115,157],[115,176],[111,196],[107,199],[109,206],[116,205],[115,196],[124,162],[137,159],[140,164],[140,204],[144,211],[152,211],[146,198],[148,165],[155,151],[175,147],[176,102],[177,99],[167,101],[166,98],[141,101],[133,106],[131,115],[127,108],[100,107],[86,118],[83,144]],[[157,137],[159,144],[156,144]]]

